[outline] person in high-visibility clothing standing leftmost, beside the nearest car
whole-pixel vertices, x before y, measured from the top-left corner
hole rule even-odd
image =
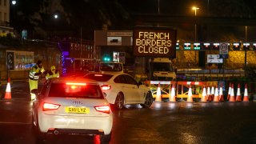
[[[38,79],[43,74],[44,68],[42,66],[42,61],[38,60],[37,64],[34,65],[29,73],[29,83],[30,83],[30,96],[31,100],[34,100],[35,94],[31,93],[32,90],[38,90]]]

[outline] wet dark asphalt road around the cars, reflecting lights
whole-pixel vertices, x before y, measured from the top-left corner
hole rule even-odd
[[[36,143],[26,83],[0,100],[0,143]],[[92,137],[56,136],[46,143],[94,143]],[[256,143],[256,102],[154,102],[149,109],[114,110],[110,144]]]

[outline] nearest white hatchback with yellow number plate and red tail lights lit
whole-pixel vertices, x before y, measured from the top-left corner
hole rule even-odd
[[[49,134],[86,134],[110,142],[110,104],[98,83],[84,78],[47,81],[33,102],[32,119],[38,139]]]

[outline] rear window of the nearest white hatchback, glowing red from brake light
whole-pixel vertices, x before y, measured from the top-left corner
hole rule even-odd
[[[50,85],[49,97],[104,98],[100,86],[72,82],[52,83]]]

